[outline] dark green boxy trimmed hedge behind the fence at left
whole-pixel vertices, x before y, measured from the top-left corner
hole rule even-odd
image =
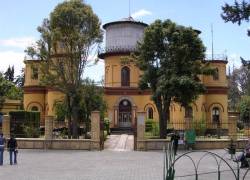
[[[40,112],[11,111],[9,115],[12,134],[24,138],[40,136]]]

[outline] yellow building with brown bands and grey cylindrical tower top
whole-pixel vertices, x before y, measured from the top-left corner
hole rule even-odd
[[[148,119],[158,121],[157,109],[151,100],[150,90],[142,91],[138,88],[142,72],[133,62],[124,61],[131,52],[135,51],[136,44],[142,38],[146,26],[147,24],[134,21],[132,18],[103,26],[106,30],[106,44],[105,50],[98,56],[105,62],[104,92],[108,105],[107,117],[113,128],[133,127],[137,111],[145,111]],[[54,104],[56,101],[62,101],[64,95],[39,85],[39,62],[25,61],[24,108],[40,111],[43,119],[44,115],[54,115]],[[221,127],[227,129],[227,61],[211,60],[210,63],[217,69],[217,75],[200,76],[207,87],[207,92],[200,95],[187,109],[172,103],[170,121],[181,124],[176,126],[176,129],[185,128],[187,121],[185,117],[195,121],[203,119],[211,125],[220,122]],[[214,127],[207,128],[214,129]]]

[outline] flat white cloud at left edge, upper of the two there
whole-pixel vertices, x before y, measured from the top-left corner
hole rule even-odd
[[[0,46],[4,47],[15,47],[15,48],[26,48],[31,44],[35,43],[36,39],[34,37],[19,37],[10,39],[0,39]]]

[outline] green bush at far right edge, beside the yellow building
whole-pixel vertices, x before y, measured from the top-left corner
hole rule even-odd
[[[242,96],[238,105],[240,120],[244,123],[250,122],[250,96]]]

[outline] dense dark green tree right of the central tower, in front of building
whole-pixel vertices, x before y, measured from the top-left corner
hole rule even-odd
[[[156,20],[145,29],[135,59],[143,71],[140,88],[152,90],[159,114],[160,138],[166,137],[171,102],[186,107],[205,91],[198,75],[214,70],[207,63],[202,66],[204,52],[198,32],[190,27],[171,20]]]

